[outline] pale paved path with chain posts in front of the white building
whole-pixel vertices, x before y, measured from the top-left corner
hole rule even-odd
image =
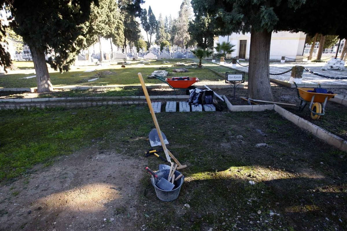
[[[248,62],[242,62],[241,64],[242,65],[248,65]],[[345,70],[343,70],[343,71],[337,71],[337,70],[322,71],[321,67],[324,64],[325,63],[309,63],[309,62],[298,62],[298,63],[271,62],[270,63],[270,73],[273,73],[273,74],[281,73],[281,72],[284,72],[284,71],[291,69],[291,67],[294,65],[301,65],[301,66],[305,66],[305,68],[308,68],[313,72],[327,75],[330,77],[340,77],[340,78],[341,77],[347,77],[347,68],[346,67],[345,67]],[[225,66],[231,67],[231,65],[232,64],[225,63]],[[243,67],[243,66],[240,66],[239,64],[236,65],[236,69],[240,70],[240,71],[248,72],[248,67]],[[286,74],[282,74],[282,75],[270,75],[270,77],[273,79],[281,80],[281,81],[289,81],[290,72],[288,72]],[[346,85],[346,88],[347,88],[347,79],[344,79],[344,80],[327,79],[327,78],[323,78],[323,77],[319,77],[317,75],[311,74],[307,71],[304,71],[304,73],[303,73],[303,83],[308,83],[308,84],[321,83],[321,84],[330,84],[330,85],[331,84],[339,84],[339,85],[341,84],[341,85]]]

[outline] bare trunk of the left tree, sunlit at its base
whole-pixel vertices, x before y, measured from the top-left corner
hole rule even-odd
[[[37,92],[48,92],[53,90],[51,79],[49,78],[44,51],[30,46],[31,55],[36,71]]]

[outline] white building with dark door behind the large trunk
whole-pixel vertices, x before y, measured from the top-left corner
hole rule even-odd
[[[287,31],[272,32],[270,61],[279,61],[282,56],[290,59],[300,59],[303,57],[305,48],[306,34],[303,32],[290,33]],[[216,43],[230,42],[235,45],[235,51],[227,54],[226,58],[239,56],[243,59],[249,59],[249,45],[251,42],[251,33],[239,34],[232,33],[229,36],[218,36],[214,38]]]

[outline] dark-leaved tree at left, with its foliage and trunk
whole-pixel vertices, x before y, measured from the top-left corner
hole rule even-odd
[[[10,24],[29,45],[34,61],[37,91],[53,89],[45,53],[57,54],[50,60],[53,68],[68,70],[79,52],[77,38],[88,20],[92,0],[20,0],[8,1],[14,18]],[[12,3],[12,4],[11,4]],[[1,55],[0,55],[1,56]]]

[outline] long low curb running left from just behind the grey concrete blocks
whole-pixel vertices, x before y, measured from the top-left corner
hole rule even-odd
[[[189,96],[150,96],[151,99],[188,99]],[[103,96],[103,97],[63,97],[63,98],[25,98],[25,99],[0,99],[4,103],[26,102],[56,102],[56,101],[86,101],[86,100],[122,100],[146,99],[145,96]]]

